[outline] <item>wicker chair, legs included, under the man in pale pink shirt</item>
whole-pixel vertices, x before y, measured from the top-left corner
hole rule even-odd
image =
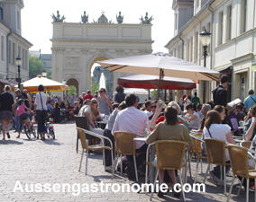
[[[122,155],[133,155],[133,161],[134,161],[134,169],[135,169],[135,175],[136,180],[138,181],[138,171],[137,171],[137,164],[136,164],[136,143],[133,141],[133,139],[137,135],[134,133],[128,133],[128,132],[122,132],[117,131],[114,132],[114,142],[115,142],[115,149],[117,153],[117,157],[114,163],[114,168],[116,166],[116,163],[118,162],[118,158],[121,155],[121,161],[122,161]],[[123,163],[121,163],[121,174],[123,174]]]

